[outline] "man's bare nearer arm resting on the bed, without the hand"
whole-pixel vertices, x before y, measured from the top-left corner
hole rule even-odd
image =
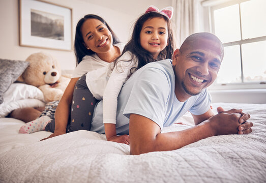
[[[130,153],[139,155],[151,151],[178,149],[213,136],[210,128],[208,125],[198,125],[184,131],[161,133],[160,127],[151,119],[131,114],[129,121]]]

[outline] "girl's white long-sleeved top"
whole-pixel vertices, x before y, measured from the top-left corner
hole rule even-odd
[[[127,60],[131,61],[126,62]],[[123,84],[136,70],[132,68],[137,66],[137,58],[127,51],[117,60],[116,66],[110,63],[106,67],[87,73],[88,89],[97,100],[103,99],[103,123],[116,124],[117,97]]]

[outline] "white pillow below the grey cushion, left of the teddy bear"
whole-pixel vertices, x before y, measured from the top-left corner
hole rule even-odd
[[[0,117],[7,116],[15,109],[45,106],[42,91],[24,83],[11,84],[3,98],[4,102],[0,104]]]

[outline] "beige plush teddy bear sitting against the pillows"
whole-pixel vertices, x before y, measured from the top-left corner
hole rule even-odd
[[[34,85],[42,90],[45,102],[60,100],[70,81],[70,75],[62,76],[57,60],[48,53],[29,55],[29,66],[17,81]]]

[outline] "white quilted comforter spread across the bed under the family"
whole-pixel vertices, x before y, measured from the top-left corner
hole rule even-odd
[[[77,131],[18,134],[22,121],[0,118],[1,182],[265,182],[266,104],[217,103],[251,114],[253,132],[200,140],[181,149],[132,156],[128,145]],[[179,122],[191,123],[187,115]],[[164,132],[189,128],[173,125]],[[6,133],[6,132],[7,133]]]

